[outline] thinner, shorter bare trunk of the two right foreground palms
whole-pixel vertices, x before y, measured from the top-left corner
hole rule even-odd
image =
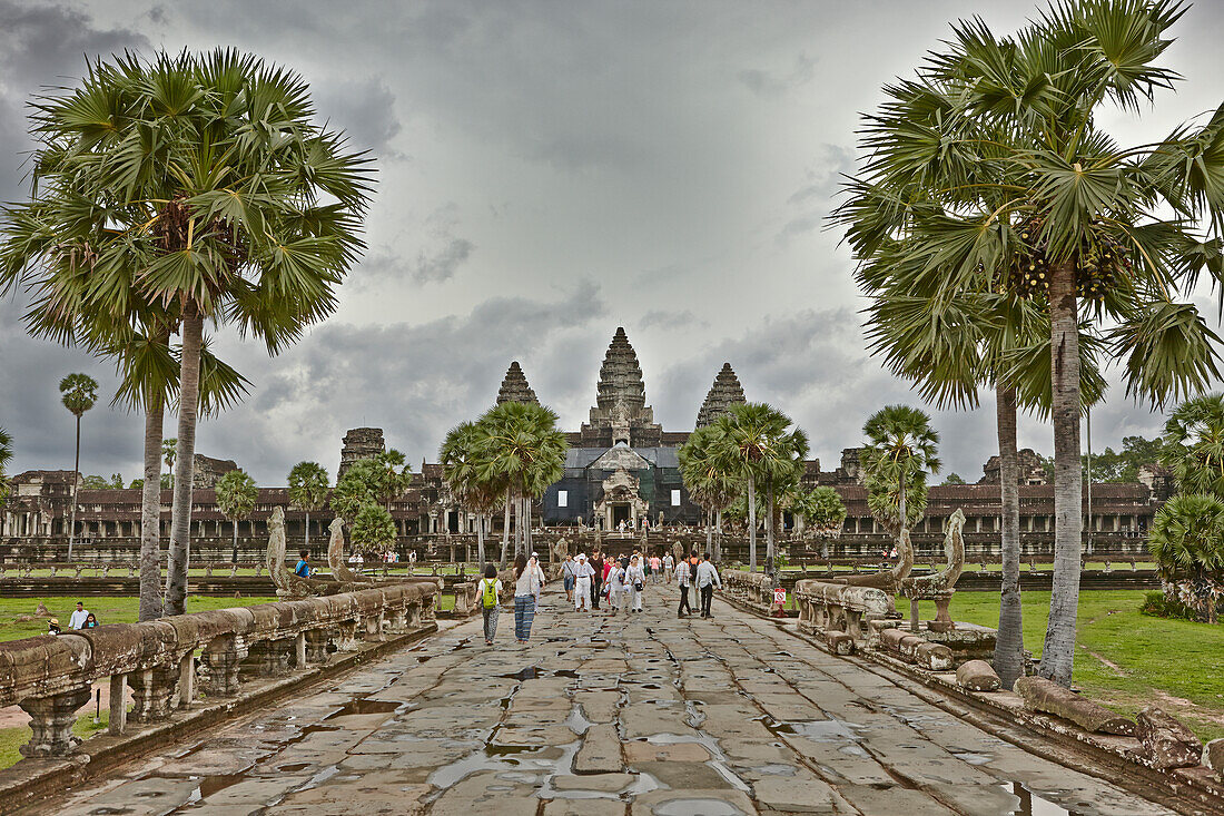
[[[1016,453],[1016,390],[995,388],[999,430],[999,493],[1002,507],[1002,592],[994,668],[1004,689],[1024,674],[1024,636],[1020,605],[1020,457]]]

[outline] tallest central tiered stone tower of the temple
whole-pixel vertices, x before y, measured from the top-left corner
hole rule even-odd
[[[657,447],[663,429],[655,424],[655,412],[646,404],[638,353],[619,326],[600,366],[595,407],[590,421],[579,430],[579,447]]]

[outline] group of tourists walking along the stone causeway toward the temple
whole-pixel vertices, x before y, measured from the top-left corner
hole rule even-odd
[[[514,560],[513,575],[514,640],[518,643],[526,643],[531,637],[540,593],[547,578],[543,567],[540,566],[540,556],[535,553],[530,556],[519,554]],[[714,618],[710,611],[714,591],[722,588],[722,581],[709,553],[698,556],[694,550],[688,557],[682,557],[677,562],[670,554],[663,557],[657,555],[647,557],[634,550],[616,559],[595,550],[590,557],[585,553],[567,555],[561,565],[565,599],[574,605],[574,611],[597,611],[603,599],[607,602],[610,615],[622,609],[625,614],[640,613],[647,584],[671,583],[673,576],[681,595],[676,616],[685,618],[693,614],[689,589],[694,589],[693,600],[700,604],[701,618]],[[483,577],[476,584],[476,597],[480,599],[485,618],[486,646],[492,646],[497,635],[503,589],[497,567],[487,564]]]

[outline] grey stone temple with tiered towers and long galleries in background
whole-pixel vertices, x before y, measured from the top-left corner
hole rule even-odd
[[[698,407],[694,426],[714,421],[737,402],[744,402],[744,390],[731,364],[717,371],[705,401]],[[535,391],[518,361],[510,363],[497,392],[496,402],[537,402]],[[785,407],[783,407],[785,408]],[[617,532],[624,527],[695,527],[703,512],[690,501],[681,479],[677,451],[690,431],[665,430],[655,423],[646,403],[646,388],[638,355],[624,328],[617,328],[600,368],[595,406],[586,423],[567,434],[569,452],[564,477],[551,485],[535,507],[535,523],[543,527],[599,527]],[[340,452],[340,472],[353,462],[375,456],[386,447],[382,429],[350,430]],[[819,459],[807,462],[805,485],[830,485],[847,507],[841,537],[835,550],[845,554],[878,554],[890,546],[890,538],[867,507],[867,491],[858,467],[859,448],[842,451],[832,470],[823,470]],[[224,462],[231,466],[230,462]],[[60,560],[66,554],[66,518],[71,496],[70,470],[28,470],[13,477],[12,495],[0,513],[0,559]],[[1054,539],[1053,486],[1032,451],[1021,452],[1021,537],[1026,553],[1050,551]],[[925,518],[913,531],[916,546],[935,546],[942,537],[946,518],[962,508],[968,521],[966,542],[989,550],[998,544],[1000,528],[998,457],[990,457],[977,484],[931,486]],[[1086,537],[1099,549],[1119,553],[1140,551],[1143,534],[1171,485],[1166,473],[1147,470],[1141,482],[1131,484],[1094,484],[1092,517],[1088,518],[1087,491]],[[170,491],[162,494],[163,534],[169,533]],[[141,491],[80,490],[77,508],[77,553],[80,557],[132,559],[140,549]],[[305,513],[289,507],[286,488],[261,488],[255,511],[239,522],[239,540],[244,553],[258,557],[267,540],[267,519],[274,507],[285,507],[290,542],[305,533]],[[411,486],[392,502],[392,516],[404,548],[419,546],[433,537],[474,533],[476,517],[460,507],[449,494],[442,467],[422,462]],[[501,529],[501,513],[491,522],[490,533]],[[785,522],[791,523],[787,517]],[[312,549],[327,542],[328,512],[312,513]],[[197,484],[192,510],[192,549],[203,557],[214,554],[228,557],[230,522],[217,508],[212,485]],[[317,546],[315,546],[317,545]]]

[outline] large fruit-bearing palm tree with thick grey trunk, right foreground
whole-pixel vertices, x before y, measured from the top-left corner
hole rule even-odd
[[[957,23],[916,78],[885,87],[836,214],[860,274],[900,263],[905,239],[905,263],[940,297],[1010,290],[1049,314],[1055,575],[1040,674],[1064,685],[1083,527],[1082,323],[1108,321],[1131,395],[1162,404],[1217,376],[1217,337],[1175,300],[1203,271],[1220,278],[1224,114],[1135,147],[1099,115],[1106,103],[1137,111],[1180,78],[1159,61],[1184,12],[1176,0],[1069,0],[1015,37]]]

